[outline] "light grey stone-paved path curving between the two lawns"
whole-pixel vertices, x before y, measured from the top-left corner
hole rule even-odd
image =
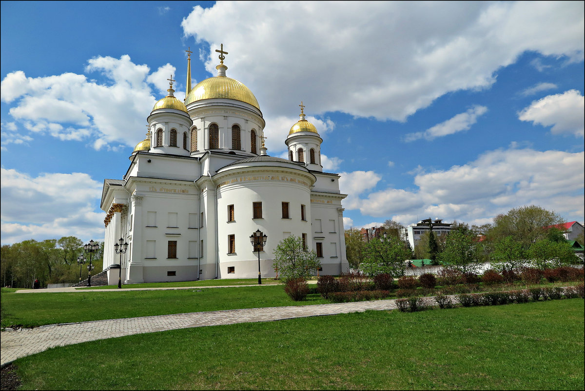
[[[247,308],[242,310],[51,324],[36,328],[23,328],[20,330],[0,332],[0,364],[4,365],[19,357],[39,353],[51,347],[78,344],[96,339],[141,334],[144,332],[245,322],[266,322],[290,318],[363,312],[366,310],[393,310],[395,308],[395,300],[375,300],[360,301],[357,303]]]

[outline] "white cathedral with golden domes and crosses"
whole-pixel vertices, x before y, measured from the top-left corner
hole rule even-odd
[[[226,77],[223,45],[216,52],[218,75],[194,88],[189,52],[184,103],[174,97],[171,77],[123,179],[104,181],[109,284],[119,273],[126,284],[274,277],[273,251],[290,235],[316,252],[320,274],[347,272],[346,195],[339,175],[323,172],[322,139],[302,102],[285,140],[288,160],[267,155],[260,105]],[[250,243],[257,229],[267,236],[260,252]],[[120,238],[128,250],[117,255]]]

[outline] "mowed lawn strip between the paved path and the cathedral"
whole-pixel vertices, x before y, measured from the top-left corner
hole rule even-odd
[[[200,311],[325,304],[319,294],[292,301],[282,286],[59,293],[2,293],[2,327],[133,318]]]

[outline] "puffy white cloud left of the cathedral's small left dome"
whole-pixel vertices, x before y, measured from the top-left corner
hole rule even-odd
[[[0,84],[1,100],[12,104],[9,114],[31,132],[91,140],[95,149],[134,146],[143,139],[146,116],[156,102],[153,95],[167,94],[167,78],[175,67],[165,64],[149,73],[148,66],[123,55],[90,59],[85,71],[107,80],[100,84],[74,73],[33,78],[15,71]],[[176,96],[183,99],[184,92]]]

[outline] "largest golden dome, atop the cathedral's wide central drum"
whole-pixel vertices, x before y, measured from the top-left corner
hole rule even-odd
[[[215,98],[245,102],[260,110],[260,105],[250,88],[227,76],[214,76],[200,81],[187,95],[185,105]]]

